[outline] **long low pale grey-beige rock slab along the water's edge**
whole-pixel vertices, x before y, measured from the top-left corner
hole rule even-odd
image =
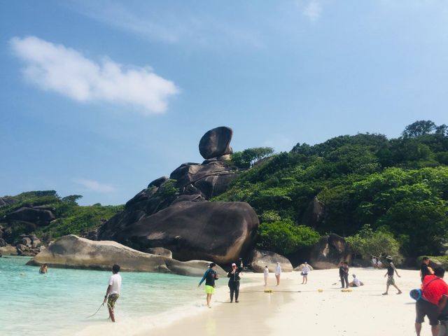
[[[162,272],[189,276],[202,276],[208,261],[190,260],[181,262],[161,255],[136,251],[116,241],[91,241],[75,235],[59,238],[47,249],[38,253],[27,265],[48,264],[50,267],[78,269],[111,269],[120,265],[122,271]],[[217,272],[225,276],[225,271],[217,267]]]

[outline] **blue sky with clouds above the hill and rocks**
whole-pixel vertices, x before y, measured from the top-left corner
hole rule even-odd
[[[202,135],[290,151],[448,124],[448,2],[0,0],[0,196],[124,204]]]

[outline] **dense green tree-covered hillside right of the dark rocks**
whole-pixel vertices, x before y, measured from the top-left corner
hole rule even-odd
[[[349,237],[365,258],[381,244],[379,252],[439,255],[448,234],[447,130],[420,120],[398,139],[344,135],[258,162],[254,153],[269,148],[251,148],[234,154],[246,170],[214,200],[251,204],[260,217],[259,246],[279,253],[332,232]]]

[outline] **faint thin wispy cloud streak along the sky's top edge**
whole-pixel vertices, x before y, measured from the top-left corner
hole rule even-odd
[[[151,4],[132,6],[132,2],[112,0],[75,1],[68,5],[81,15],[151,41],[183,45],[244,45],[264,48],[258,31],[239,22],[221,20],[209,13],[192,13],[187,7],[169,12]]]

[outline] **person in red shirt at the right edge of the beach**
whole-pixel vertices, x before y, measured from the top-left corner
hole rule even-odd
[[[425,276],[421,284],[421,299],[415,304],[415,331],[420,336],[421,323],[428,316],[433,336],[439,335],[439,314],[447,306],[448,285],[442,279],[445,270],[435,267],[434,274]]]

